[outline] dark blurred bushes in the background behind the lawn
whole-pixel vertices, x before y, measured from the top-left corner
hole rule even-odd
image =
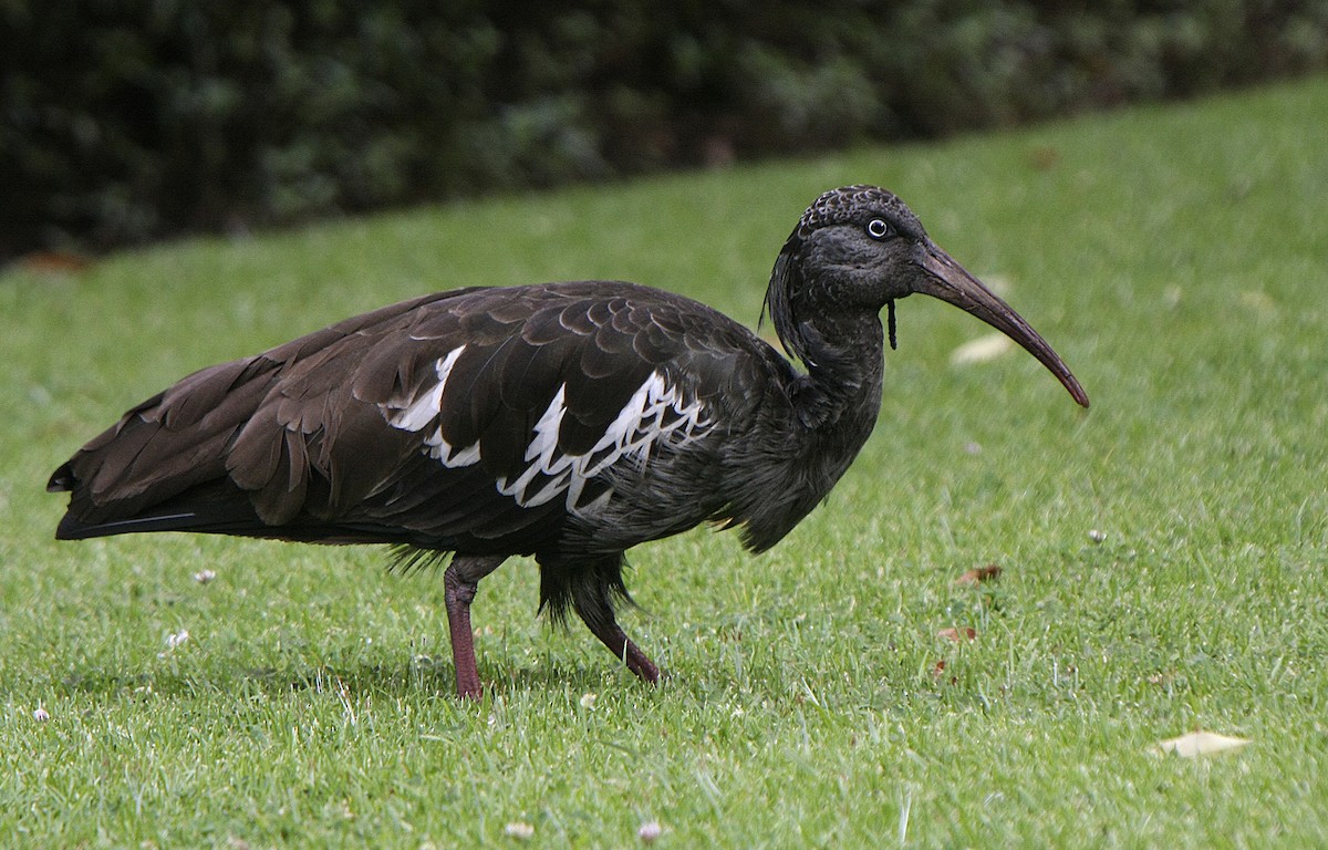
[[[0,0],[0,256],[1324,68],[1328,0]]]

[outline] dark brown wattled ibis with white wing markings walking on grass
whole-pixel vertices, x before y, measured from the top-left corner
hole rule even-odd
[[[871,433],[895,301],[924,294],[1008,335],[1082,406],[1078,380],[888,190],[819,195],[784,243],[762,321],[606,280],[438,292],[194,372],[50,477],[56,537],[190,531],[377,543],[444,568],[458,697],[481,699],[470,606],[534,556],[539,612],[575,612],[660,679],[616,611],[625,551],[699,525],[764,552]],[[887,311],[883,327],[880,312]],[[761,323],[758,323],[760,327]]]

